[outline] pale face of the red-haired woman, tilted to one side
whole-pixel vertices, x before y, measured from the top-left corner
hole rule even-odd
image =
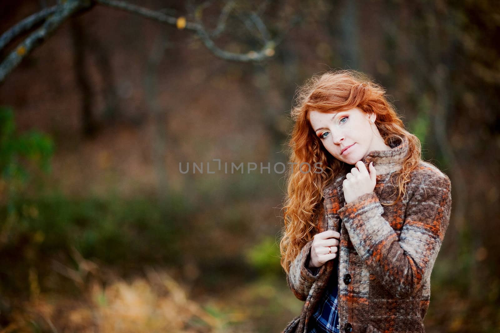
[[[337,160],[351,165],[372,150],[385,149],[375,117],[357,107],[332,113],[309,112],[309,122],[324,148]]]

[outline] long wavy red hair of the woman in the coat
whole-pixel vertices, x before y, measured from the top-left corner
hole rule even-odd
[[[295,123],[288,143],[289,162],[299,167],[288,169],[287,193],[282,208],[284,227],[279,248],[281,266],[286,273],[300,249],[312,239],[322,189],[345,168],[343,162],[324,149],[315,135],[308,118],[311,110],[330,113],[358,107],[363,112],[376,114],[375,125],[385,144],[403,137],[408,139],[408,154],[402,168],[391,175],[392,183],[393,177],[396,178],[393,184],[398,195],[388,205],[395,204],[405,195],[410,173],[421,160],[420,141],[404,129],[394,107],[387,101],[385,89],[362,73],[336,70],[316,74],[297,89],[293,105],[291,116]],[[317,173],[303,162],[308,166],[320,162],[323,172]]]

